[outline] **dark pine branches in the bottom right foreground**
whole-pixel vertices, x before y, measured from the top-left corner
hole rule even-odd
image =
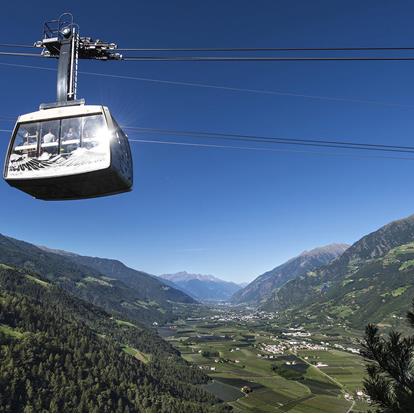
[[[414,328],[413,311],[407,313]],[[380,335],[377,326],[365,329],[362,355],[367,359],[365,392],[385,412],[412,412],[414,408],[414,335],[391,331]]]

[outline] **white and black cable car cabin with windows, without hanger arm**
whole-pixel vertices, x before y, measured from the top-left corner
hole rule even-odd
[[[4,179],[42,200],[130,191],[128,138],[104,106],[60,106],[21,115],[6,154]]]

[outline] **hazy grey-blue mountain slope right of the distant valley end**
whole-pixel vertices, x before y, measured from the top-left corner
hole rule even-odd
[[[258,276],[244,289],[232,297],[234,303],[259,304],[266,301],[274,289],[310,270],[326,265],[340,256],[349,246],[347,244],[330,244],[304,251],[286,263]]]

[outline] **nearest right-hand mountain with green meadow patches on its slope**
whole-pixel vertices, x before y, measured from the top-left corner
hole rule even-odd
[[[402,317],[414,297],[414,215],[363,237],[339,258],[273,291],[267,310],[314,320],[368,321]]]

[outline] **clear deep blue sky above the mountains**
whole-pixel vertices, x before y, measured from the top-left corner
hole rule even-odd
[[[5,2],[0,43],[31,44],[40,39],[44,20],[71,11],[81,35],[119,47],[414,45],[414,3],[409,0],[119,0],[111,7],[92,0],[67,2],[70,10],[61,4]],[[1,57],[0,63],[56,65],[17,57]],[[79,96],[107,105],[122,125],[413,144],[414,62],[81,61],[80,70],[344,99],[80,74]],[[15,117],[55,100],[55,73],[0,65],[0,90],[0,116]],[[0,119],[0,129],[12,126]],[[0,133],[2,156],[8,138]],[[0,232],[117,258],[154,274],[187,270],[244,282],[305,249],[352,243],[414,213],[412,160],[362,158],[355,152],[337,156],[131,145],[132,193],[50,203],[1,181]]]

